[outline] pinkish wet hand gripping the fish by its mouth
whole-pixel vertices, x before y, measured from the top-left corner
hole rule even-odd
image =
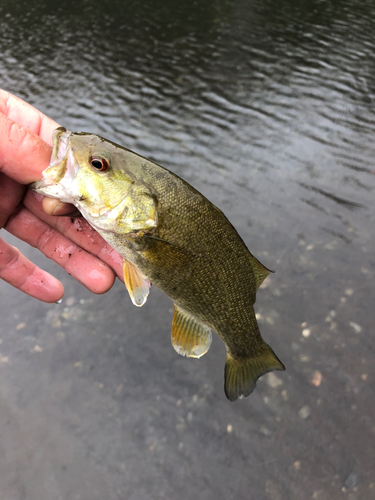
[[[27,188],[40,180],[59,125],[0,89],[0,228],[38,248],[94,293],[108,291],[122,258],[75,207],[43,198]],[[57,217],[68,215],[66,217]],[[70,216],[69,216],[70,215]],[[0,278],[44,302],[64,295],[63,285],[0,238]]]

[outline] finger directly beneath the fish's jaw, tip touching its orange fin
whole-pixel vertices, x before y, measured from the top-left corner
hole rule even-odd
[[[103,240],[100,234],[83,217],[54,217],[47,215],[42,207],[42,196],[30,190],[27,191],[23,203],[39,219],[57,229],[57,231],[90,252],[90,254],[96,255],[107,263],[118,278],[123,281],[122,257]]]

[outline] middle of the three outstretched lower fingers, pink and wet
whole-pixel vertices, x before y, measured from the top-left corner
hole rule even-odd
[[[12,216],[5,229],[40,250],[92,292],[104,293],[112,287],[115,275],[109,266],[38,219],[27,208],[21,208]]]

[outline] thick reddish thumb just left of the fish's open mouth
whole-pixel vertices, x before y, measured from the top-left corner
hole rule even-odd
[[[0,137],[0,171],[20,184],[40,180],[51,146],[4,114],[0,114]]]

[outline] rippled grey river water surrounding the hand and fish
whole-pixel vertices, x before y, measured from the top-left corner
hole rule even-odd
[[[0,283],[0,497],[375,497],[375,3],[0,4],[0,86],[177,173],[276,273],[262,335],[286,365],[223,393],[224,346],[175,354],[172,304]],[[2,231],[3,233],[3,231]]]

